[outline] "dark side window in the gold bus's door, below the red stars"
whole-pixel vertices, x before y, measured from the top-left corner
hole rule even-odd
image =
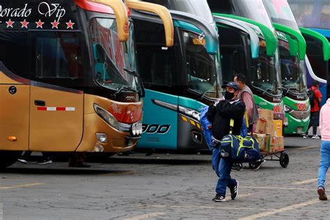
[[[36,79],[83,77],[81,45],[76,33],[38,33],[31,36],[31,57]],[[33,62],[33,61],[31,61]],[[60,85],[61,86],[61,85]]]

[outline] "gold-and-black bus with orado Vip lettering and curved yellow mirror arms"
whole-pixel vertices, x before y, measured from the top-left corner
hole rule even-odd
[[[159,15],[166,46],[173,45],[171,15],[158,5],[1,0],[0,168],[23,150],[123,152],[136,146],[144,90],[129,6]]]

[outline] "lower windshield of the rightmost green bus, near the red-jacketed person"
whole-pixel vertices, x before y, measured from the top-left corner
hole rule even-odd
[[[294,93],[306,92],[306,77],[304,74],[304,61],[299,63],[297,56],[290,56],[290,46],[288,42],[279,41],[281,57],[282,84],[286,89]]]

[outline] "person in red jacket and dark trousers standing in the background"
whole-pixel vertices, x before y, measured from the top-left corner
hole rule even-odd
[[[308,129],[306,134],[304,134],[304,139],[308,138],[308,130],[313,126],[313,136],[312,139],[320,139],[319,136],[317,136],[317,126],[319,126],[319,120],[320,120],[320,103],[322,102],[322,93],[319,90],[319,82],[314,81],[311,88],[312,96],[312,103],[311,103],[311,121],[309,123]]]

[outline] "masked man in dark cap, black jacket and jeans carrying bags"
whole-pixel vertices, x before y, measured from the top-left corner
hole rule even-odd
[[[226,88],[224,100],[210,106],[209,111],[207,111],[207,119],[212,123],[212,135],[219,142],[223,136],[230,132],[230,119],[234,119],[233,134],[239,135],[245,112],[244,102],[237,98],[239,93],[237,84],[230,81],[222,88]],[[226,187],[230,189],[231,198],[235,199],[238,195],[238,181],[230,178],[233,164],[226,159],[220,159],[219,144],[212,152],[212,166],[219,177],[215,190],[217,195],[213,198],[213,201],[226,201]]]

